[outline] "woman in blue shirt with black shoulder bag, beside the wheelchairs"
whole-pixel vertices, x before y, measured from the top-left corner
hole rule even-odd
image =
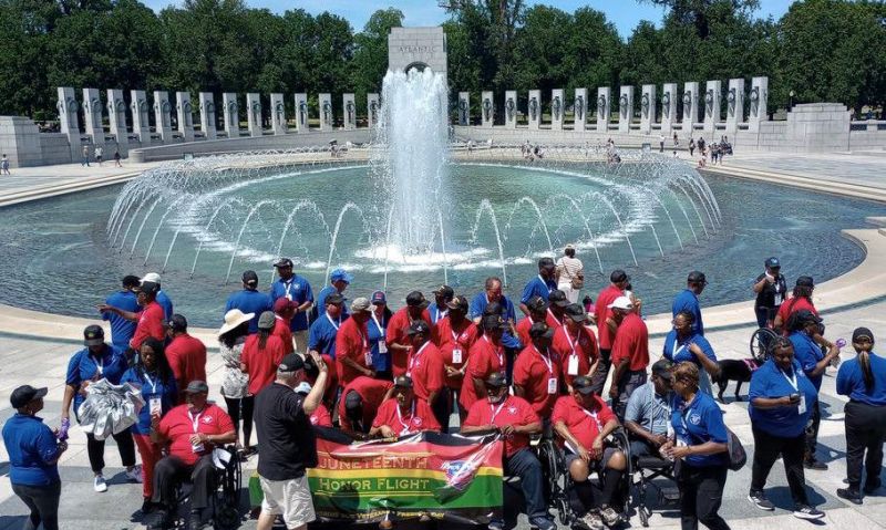
[[[680,519],[683,530],[699,528],[729,530],[718,513],[729,471],[729,435],[723,413],[713,397],[699,392],[699,367],[689,362],[673,368],[671,428],[673,437],[661,450],[681,460],[678,476]]]

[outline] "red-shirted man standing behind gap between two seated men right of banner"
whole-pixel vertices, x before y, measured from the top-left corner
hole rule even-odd
[[[559,395],[560,362],[550,350],[554,330],[544,322],[529,328],[532,342],[523,349],[514,362],[514,394],[526,399],[542,420],[550,417],[550,411]]]

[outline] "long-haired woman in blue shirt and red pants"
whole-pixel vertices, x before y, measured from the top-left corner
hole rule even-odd
[[[145,401],[145,406],[138,412],[138,420],[130,430],[138,447],[138,455],[142,456],[144,472],[142,512],[147,513],[151,511],[151,497],[154,495],[154,466],[163,457],[162,447],[151,441],[151,416],[163,417],[169,412],[175,406],[178,388],[162,342],[154,337],[145,339],[138,351],[138,357],[142,362],[123,374],[121,384],[130,383],[141,388]]]

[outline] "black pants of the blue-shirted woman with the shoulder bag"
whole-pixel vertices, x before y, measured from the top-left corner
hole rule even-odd
[[[725,466],[680,466],[678,485],[682,530],[698,530],[699,522],[711,530],[730,530],[727,521],[718,513],[723,502],[727,472],[729,468]]]

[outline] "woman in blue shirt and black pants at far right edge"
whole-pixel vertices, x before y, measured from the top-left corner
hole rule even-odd
[[[883,443],[886,440],[886,358],[874,355],[874,334],[867,328],[852,333],[852,345],[858,354],[846,361],[837,372],[837,393],[849,397],[846,413],[846,477],[848,488],[837,495],[856,505],[862,503],[862,459],[867,450],[867,471],[864,492],[880,487]]]

